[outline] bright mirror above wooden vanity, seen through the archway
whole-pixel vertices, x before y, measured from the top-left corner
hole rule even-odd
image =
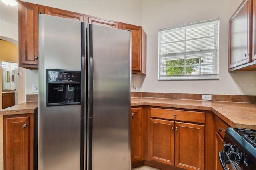
[[[2,89],[3,90],[14,90],[16,89],[15,77],[16,69],[18,69],[17,63],[9,63],[2,61]]]

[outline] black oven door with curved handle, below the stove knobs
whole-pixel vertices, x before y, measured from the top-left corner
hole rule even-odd
[[[242,170],[236,162],[229,159],[228,153],[224,150],[219,152],[219,158],[223,170]]]

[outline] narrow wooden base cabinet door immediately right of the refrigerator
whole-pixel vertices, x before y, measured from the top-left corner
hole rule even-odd
[[[142,160],[142,108],[131,111],[131,159]]]

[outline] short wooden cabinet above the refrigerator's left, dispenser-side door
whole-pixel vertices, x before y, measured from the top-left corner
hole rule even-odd
[[[70,12],[70,11],[66,11],[66,10],[60,10],[57,8],[45,7],[44,14],[58,16],[58,17],[62,17],[62,18],[68,18],[68,19],[72,19],[72,20],[88,22],[88,18],[84,17],[84,15],[82,15],[82,14],[79,14],[76,12]]]

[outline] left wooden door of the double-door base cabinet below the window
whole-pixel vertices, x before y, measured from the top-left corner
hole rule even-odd
[[[150,159],[174,165],[174,121],[150,118]]]

